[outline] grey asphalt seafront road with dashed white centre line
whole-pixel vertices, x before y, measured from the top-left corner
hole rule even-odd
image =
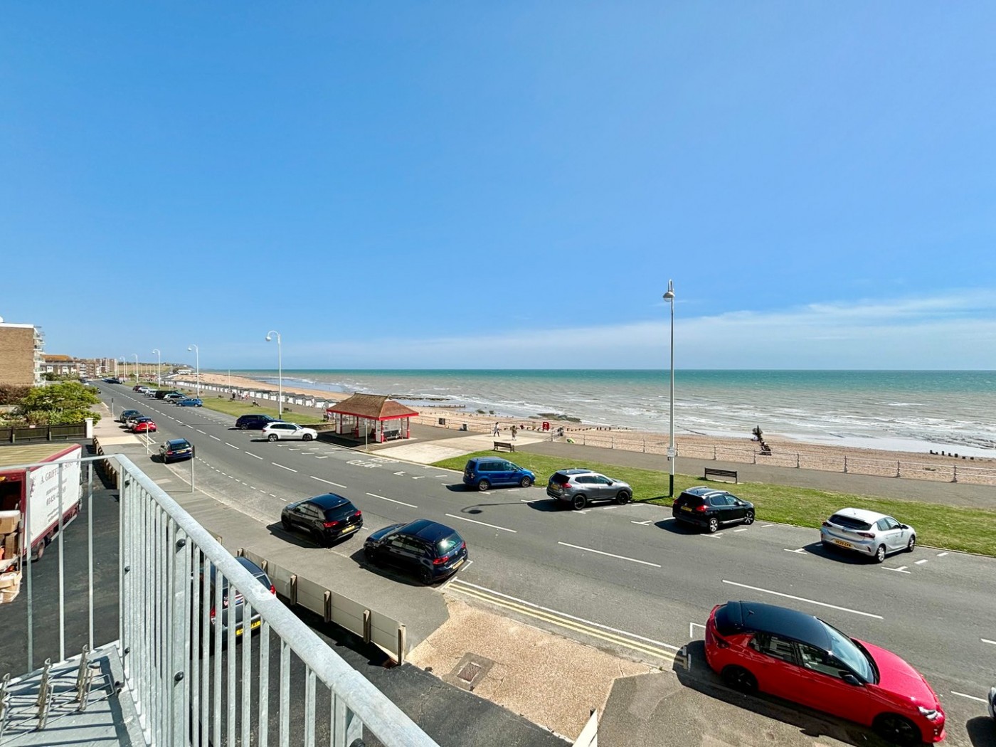
[[[446,591],[512,617],[669,666],[673,651],[700,635],[695,625],[713,605],[783,604],[917,666],[944,699],[952,744],[972,743],[959,724],[984,713],[978,698],[992,684],[996,660],[996,644],[987,642],[996,640],[992,559],[920,547],[876,566],[827,556],[810,529],[755,524],[703,536],[675,526],[668,510],[654,506],[560,511],[541,488],[467,492],[453,472],[323,442],[268,443],[230,429],[234,418],[222,413],[113,389],[117,405],[124,398],[154,410],[160,441],[194,441],[198,487],[250,515],[276,522],[285,502],[334,490],[363,509],[362,536],[418,517],[456,527],[473,563]],[[178,483],[185,471],[174,468]],[[344,568],[362,563],[361,541],[333,549]],[[412,606],[406,619],[432,608],[425,590],[379,573],[367,578],[381,600]]]

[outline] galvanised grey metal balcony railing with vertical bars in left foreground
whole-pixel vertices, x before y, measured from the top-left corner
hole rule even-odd
[[[146,744],[359,747],[366,731],[385,747],[435,746],[129,459],[114,455],[74,461],[77,469],[95,462],[110,467],[118,480],[117,646],[124,669],[118,697],[123,706],[125,700],[133,704]],[[64,469],[77,474],[68,466],[59,468],[60,510],[79,497],[74,480],[63,479]],[[81,511],[87,514],[87,484],[93,507],[93,470],[84,466],[82,474],[86,484]],[[31,480],[25,483],[30,505]],[[80,600],[89,600],[90,650],[95,643],[94,529],[92,510],[89,513],[89,590],[65,589],[58,547],[63,658],[67,599],[76,610]],[[25,525],[30,522],[26,517]],[[64,538],[61,532],[55,542]],[[43,563],[49,563],[48,558]],[[38,622],[32,613],[32,565],[23,564],[29,670],[36,665],[32,647]],[[76,617],[82,627],[83,615]],[[83,656],[81,671],[87,649]]]

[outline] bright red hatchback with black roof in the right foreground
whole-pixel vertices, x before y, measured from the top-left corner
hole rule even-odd
[[[705,626],[705,658],[734,689],[857,721],[894,744],[944,738],[944,710],[922,674],[812,615],[758,602],[718,605]]]

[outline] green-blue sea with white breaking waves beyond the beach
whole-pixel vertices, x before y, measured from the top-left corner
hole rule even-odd
[[[233,372],[235,373],[235,372]],[[274,371],[240,374],[277,383]],[[669,371],[285,371],[285,389],[668,432]],[[993,371],[675,371],[674,430],[996,457]]]

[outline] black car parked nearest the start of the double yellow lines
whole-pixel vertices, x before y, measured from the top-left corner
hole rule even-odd
[[[444,524],[416,519],[378,529],[364,543],[371,563],[395,566],[423,584],[452,576],[467,561],[467,543]]]

